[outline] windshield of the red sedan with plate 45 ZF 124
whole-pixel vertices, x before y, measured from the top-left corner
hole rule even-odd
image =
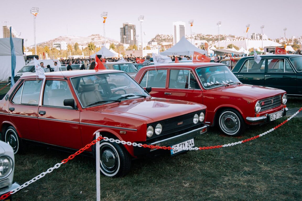
[[[240,83],[237,77],[225,65],[197,68],[196,73],[205,89]]]

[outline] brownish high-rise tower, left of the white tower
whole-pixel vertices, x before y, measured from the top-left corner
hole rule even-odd
[[[123,23],[123,27],[120,28],[120,43],[137,45],[136,26],[134,24]]]

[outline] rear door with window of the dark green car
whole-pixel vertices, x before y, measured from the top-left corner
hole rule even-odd
[[[254,59],[247,59],[236,77],[244,84],[264,85],[265,59],[261,59],[259,64]]]

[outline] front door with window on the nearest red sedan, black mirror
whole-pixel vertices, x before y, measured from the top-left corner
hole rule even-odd
[[[68,82],[47,79],[38,112],[40,142],[79,149],[82,147],[80,111],[64,106],[65,99],[74,99]]]

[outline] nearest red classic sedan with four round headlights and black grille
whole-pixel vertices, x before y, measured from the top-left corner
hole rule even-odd
[[[103,137],[187,148],[207,131],[204,105],[152,98],[123,71],[59,71],[45,76],[21,77],[0,101],[1,140],[14,153],[23,152],[26,143],[74,152],[91,143],[99,129]],[[95,146],[88,151],[94,154]],[[160,152],[104,140],[98,151],[101,171],[110,177],[127,174],[131,158]]]

